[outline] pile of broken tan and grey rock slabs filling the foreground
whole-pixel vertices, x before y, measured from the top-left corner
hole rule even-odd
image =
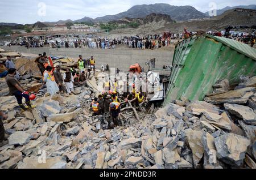
[[[9,118],[0,168],[256,168],[255,84],[247,79],[205,101],[182,98],[113,129],[89,111],[90,88],[40,97],[31,112],[2,101]]]

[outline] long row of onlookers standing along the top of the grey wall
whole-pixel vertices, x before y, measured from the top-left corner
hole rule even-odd
[[[97,48],[114,49],[116,45],[127,45],[128,48],[138,49],[158,49],[171,44],[172,39],[182,38],[182,33],[164,32],[160,35],[147,35],[145,37],[131,36],[120,38],[108,37],[34,37],[17,40],[10,45],[21,45],[27,48],[41,48],[49,46],[51,48]]]

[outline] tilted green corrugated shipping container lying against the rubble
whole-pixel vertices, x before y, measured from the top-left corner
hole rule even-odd
[[[186,97],[203,100],[220,79],[236,84],[256,75],[256,49],[225,37],[192,36],[175,47],[164,105]]]

